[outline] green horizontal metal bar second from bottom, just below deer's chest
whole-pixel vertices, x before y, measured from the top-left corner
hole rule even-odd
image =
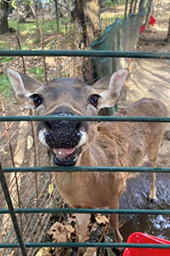
[[[80,209],[80,208],[16,208],[15,213],[103,213],[103,214],[170,214],[170,210],[146,209]],[[0,214],[9,213],[8,209],[0,209]]]

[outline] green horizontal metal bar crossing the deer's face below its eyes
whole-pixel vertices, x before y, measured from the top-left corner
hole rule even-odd
[[[47,121],[47,120],[82,120],[82,121],[110,121],[110,122],[161,122],[170,123],[170,118],[167,117],[135,117],[135,116],[57,116],[57,115],[46,115],[46,116],[25,116],[25,115],[8,115],[0,116],[0,122],[4,121]]]

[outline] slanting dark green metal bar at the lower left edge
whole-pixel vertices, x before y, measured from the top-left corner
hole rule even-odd
[[[3,188],[3,194],[5,196],[5,200],[6,200],[7,205],[8,205],[8,211],[10,213],[10,217],[11,217],[13,225],[14,225],[14,231],[16,233],[17,239],[18,239],[19,244],[20,244],[21,253],[22,253],[23,256],[27,256],[26,247],[24,245],[24,241],[22,240],[22,236],[20,235],[19,224],[18,224],[16,215],[15,215],[15,212],[14,212],[13,203],[11,201],[11,198],[10,198],[10,195],[9,195],[9,192],[8,192],[8,186],[7,186],[7,183],[6,183],[6,179],[4,177],[3,168],[1,166],[1,163],[0,163],[0,182],[1,182],[1,185],[2,185],[2,188]]]

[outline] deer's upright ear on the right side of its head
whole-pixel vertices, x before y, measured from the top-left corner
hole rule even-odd
[[[116,73],[113,73],[112,76],[100,79],[97,82],[97,86],[94,84],[94,89],[99,94],[99,109],[115,106],[121,96],[122,86],[127,79],[127,73],[127,69],[120,69]]]

